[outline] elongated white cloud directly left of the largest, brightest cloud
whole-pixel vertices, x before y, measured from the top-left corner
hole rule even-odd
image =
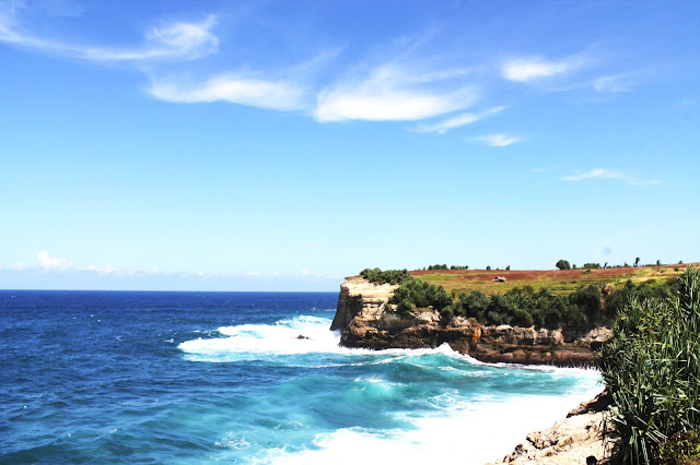
[[[229,102],[258,108],[293,110],[302,108],[304,92],[284,81],[265,81],[233,74],[199,84],[155,80],[147,91],[153,97],[182,104]]]

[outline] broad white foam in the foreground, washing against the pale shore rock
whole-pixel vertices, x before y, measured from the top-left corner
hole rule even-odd
[[[410,419],[413,429],[343,428],[318,434],[314,449],[295,453],[268,451],[260,462],[276,465],[455,461],[482,464],[509,454],[528,431],[549,428],[599,391],[600,388],[595,386],[565,397],[526,396],[503,402],[485,398],[455,404],[446,415],[443,410],[440,416]]]

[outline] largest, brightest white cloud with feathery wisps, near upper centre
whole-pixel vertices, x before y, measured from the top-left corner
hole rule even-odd
[[[469,87],[442,88],[454,73],[411,73],[396,65],[374,69],[369,78],[336,84],[318,93],[317,121],[415,121],[466,108],[477,99]]]

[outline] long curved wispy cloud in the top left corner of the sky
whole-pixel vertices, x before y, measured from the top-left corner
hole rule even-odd
[[[191,60],[209,55],[219,47],[219,38],[212,33],[217,20],[214,15],[199,22],[164,23],[148,31],[143,44],[132,48],[114,48],[71,44],[34,35],[18,23],[14,13],[15,10],[11,9],[0,11],[0,41],[90,61]]]

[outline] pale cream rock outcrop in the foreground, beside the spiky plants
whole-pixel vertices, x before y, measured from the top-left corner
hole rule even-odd
[[[497,464],[605,464],[619,439],[604,431],[604,415],[609,405],[606,392],[581,404],[549,429],[527,434],[525,441]],[[605,434],[604,434],[605,432]]]

